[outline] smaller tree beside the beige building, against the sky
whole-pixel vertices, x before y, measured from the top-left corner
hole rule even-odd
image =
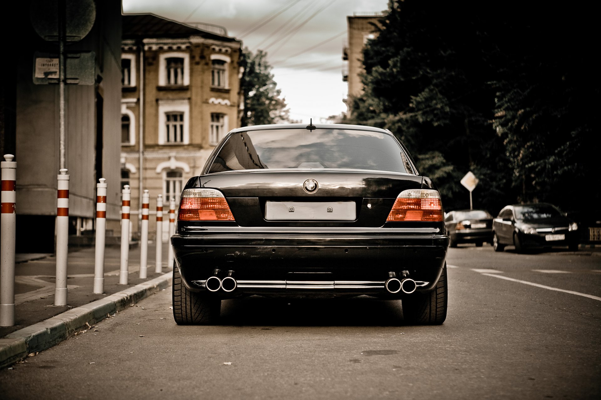
[[[278,124],[288,121],[289,110],[281,91],[273,80],[267,53],[257,50],[254,55],[246,47],[242,53],[240,66],[244,68],[240,87],[244,97],[242,126]]]

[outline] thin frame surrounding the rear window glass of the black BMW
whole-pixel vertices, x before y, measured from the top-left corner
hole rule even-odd
[[[407,158],[407,160],[409,160],[409,164],[412,167],[412,172],[413,173],[403,173],[403,172],[395,172],[395,171],[384,171],[386,173],[398,173],[398,174],[406,174],[409,176],[419,176],[418,170],[415,167],[415,164],[413,163],[413,160],[409,154],[409,151],[407,151],[407,149],[405,148],[405,146],[403,145],[403,143],[398,140],[398,137],[396,137],[391,131],[388,130],[382,130],[380,128],[373,128],[369,129],[370,127],[365,127],[366,129],[358,129],[358,128],[328,128],[328,129],[332,129],[332,130],[341,130],[341,131],[364,131],[364,132],[376,132],[376,133],[382,133],[385,135],[388,135],[390,137],[392,137],[392,139],[397,143],[398,147],[400,148],[400,152],[403,153],[403,155]],[[225,143],[227,143],[228,139],[230,139],[230,136],[233,136],[235,134],[239,134],[239,133],[245,133],[245,132],[255,132],[255,131],[271,131],[271,130],[292,130],[292,129],[299,129],[298,127],[290,127],[290,128],[283,128],[281,126],[274,126],[274,127],[269,127],[269,128],[263,128],[263,129],[248,129],[248,130],[242,130],[240,128],[236,128],[234,130],[231,130],[230,132],[228,132],[223,139],[221,139],[221,142],[219,142],[219,145],[216,146],[213,151],[211,152],[211,154],[209,155],[209,158],[207,159],[207,162],[204,164],[203,170],[202,170],[202,175],[213,175],[216,173],[230,173],[230,172],[239,172],[239,171],[255,171],[255,170],[236,170],[236,171],[222,171],[222,172],[212,172],[212,173],[208,173],[208,171],[210,170],[210,167],[212,166],[213,162],[215,161],[215,158],[217,158],[217,155],[219,154],[219,152],[221,152],[221,149],[224,147]],[[317,129],[324,129],[324,128],[317,128]],[[404,164],[404,163],[403,163]],[[275,170],[275,169],[270,169],[270,170]],[[283,169],[283,170],[300,170],[300,169]],[[312,169],[304,169],[304,170],[312,170]],[[323,171],[332,171],[334,169],[313,169],[313,170],[323,170]],[[342,170],[342,169],[338,169],[338,170]],[[344,170],[353,170],[353,169],[344,169]],[[379,171],[379,170],[361,170],[361,169],[354,169],[355,171]],[[260,169],[260,171],[264,171],[264,169]]]

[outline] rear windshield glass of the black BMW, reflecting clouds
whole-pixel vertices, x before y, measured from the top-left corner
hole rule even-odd
[[[230,136],[209,173],[234,170],[314,168],[407,172],[391,135],[339,129],[249,131]]]

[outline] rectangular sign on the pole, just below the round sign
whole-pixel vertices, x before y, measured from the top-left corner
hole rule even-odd
[[[94,52],[69,52],[65,54],[67,85],[94,85],[96,59]],[[58,84],[58,55],[34,53],[35,85]]]

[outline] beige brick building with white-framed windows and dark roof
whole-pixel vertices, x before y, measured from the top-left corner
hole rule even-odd
[[[240,126],[241,45],[225,29],[205,31],[151,14],[123,16],[121,187],[132,189],[134,232],[140,186],[150,191],[153,238],[157,195],[178,203],[219,140]],[[166,210],[168,201],[163,221]],[[166,239],[168,223],[163,227]]]

